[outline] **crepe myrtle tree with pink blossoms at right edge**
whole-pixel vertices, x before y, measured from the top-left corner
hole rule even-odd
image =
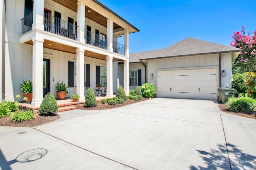
[[[241,32],[235,31],[232,36],[232,47],[240,48],[243,51],[232,63],[233,73],[251,72],[256,67],[256,30],[245,35],[245,27],[242,26]]]

